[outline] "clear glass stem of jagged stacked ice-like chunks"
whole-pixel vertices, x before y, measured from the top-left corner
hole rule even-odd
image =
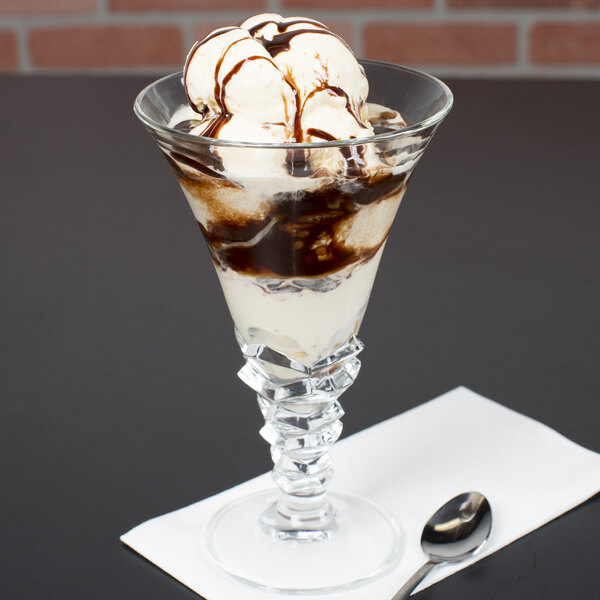
[[[327,497],[334,473],[329,449],[342,432],[338,399],[358,375],[362,343],[352,337],[310,367],[266,346],[240,346],[246,364],[239,376],[257,392],[265,418],[260,434],[271,445],[281,492],[263,514],[263,528],[280,539],[328,539],[338,527]]]

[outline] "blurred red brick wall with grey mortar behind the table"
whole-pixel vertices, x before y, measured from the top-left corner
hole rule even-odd
[[[600,78],[600,0],[0,0],[0,70],[176,70],[198,37],[265,11],[441,75]]]

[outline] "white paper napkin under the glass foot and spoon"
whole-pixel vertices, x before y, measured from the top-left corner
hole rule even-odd
[[[599,454],[464,387],[340,441],[332,454],[332,488],[386,508],[399,521],[404,544],[397,567],[384,577],[323,596],[329,600],[389,600],[425,562],[419,543],[423,524],[459,493],[476,490],[487,496],[493,511],[490,539],[469,561],[434,569],[419,590],[600,491]],[[212,564],[204,547],[206,525],[221,506],[272,486],[269,474],[261,475],[142,523],[121,541],[207,600],[289,598],[235,581]]]

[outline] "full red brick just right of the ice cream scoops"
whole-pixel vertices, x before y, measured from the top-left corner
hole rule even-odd
[[[485,23],[372,23],[365,56],[417,64],[493,65],[516,59],[514,25]]]

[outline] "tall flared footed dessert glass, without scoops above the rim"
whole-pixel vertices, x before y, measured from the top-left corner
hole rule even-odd
[[[360,368],[356,335],[388,232],[452,94],[415,70],[361,64],[369,99],[381,105],[370,137],[322,132],[322,142],[276,144],[191,135],[193,124],[173,126],[187,104],[180,73],[135,102],[204,234],[279,488],[222,507],[208,550],[230,575],[272,590],[341,589],[381,575],[400,554],[399,528],[384,510],[327,492],[329,449],[342,431],[339,397]],[[406,126],[391,125],[384,107]]]

